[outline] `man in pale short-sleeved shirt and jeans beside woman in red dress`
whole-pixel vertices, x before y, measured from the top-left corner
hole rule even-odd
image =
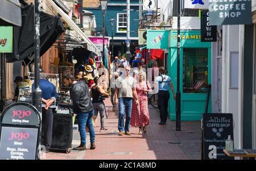
[[[115,94],[114,101],[115,105],[118,105],[119,116],[118,116],[118,130],[119,135],[123,135],[123,129],[125,130],[125,135],[131,135],[130,121],[131,121],[131,107],[134,101],[138,104],[137,92],[134,88],[134,78],[129,75],[130,67],[125,66],[126,74],[122,74],[115,83]],[[124,126],[123,116],[126,113],[126,120]]]

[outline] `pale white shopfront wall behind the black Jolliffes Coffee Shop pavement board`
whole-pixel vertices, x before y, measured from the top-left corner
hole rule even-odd
[[[241,25],[223,25],[222,28],[222,113],[233,114],[234,148],[241,148],[244,28]],[[239,53],[237,89],[230,88],[230,52]]]

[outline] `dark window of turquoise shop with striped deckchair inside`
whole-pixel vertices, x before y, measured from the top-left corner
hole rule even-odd
[[[207,93],[208,49],[183,49],[183,92]]]

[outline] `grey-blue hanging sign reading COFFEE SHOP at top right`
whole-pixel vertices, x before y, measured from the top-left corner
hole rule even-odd
[[[251,0],[209,0],[210,25],[251,24]]]

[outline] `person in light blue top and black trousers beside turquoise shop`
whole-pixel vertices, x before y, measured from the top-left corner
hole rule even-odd
[[[159,125],[165,125],[168,116],[168,101],[170,98],[169,89],[171,88],[172,93],[175,97],[174,86],[170,76],[166,75],[166,69],[159,67],[159,75],[155,78],[155,83],[159,86],[158,91],[158,109],[160,112],[160,123]]]

